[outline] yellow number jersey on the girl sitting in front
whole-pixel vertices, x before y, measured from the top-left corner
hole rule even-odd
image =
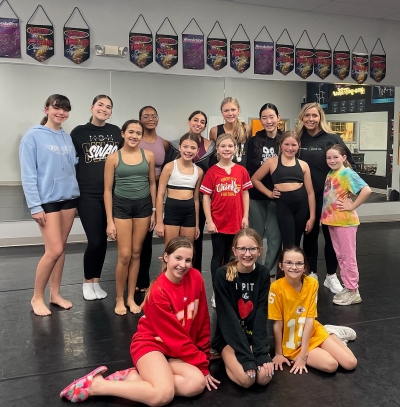
[[[318,281],[305,277],[301,291],[296,291],[285,278],[271,284],[268,295],[268,318],[283,322],[282,351],[288,359],[300,353],[306,318],[314,318],[314,327],[308,351],[316,348],[329,337],[317,317]]]

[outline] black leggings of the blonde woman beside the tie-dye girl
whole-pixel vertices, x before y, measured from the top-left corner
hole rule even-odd
[[[317,260],[318,260],[318,236],[319,236],[319,222],[321,219],[322,203],[323,203],[323,192],[315,194],[315,223],[314,227],[310,233],[305,234],[303,238],[303,249],[306,253],[308,264],[310,265],[310,271],[317,272]],[[322,225],[322,233],[325,238],[325,263],[326,272],[328,274],[335,274],[337,269],[337,259],[335,249],[332,245],[331,235],[329,233],[329,228],[326,225]]]

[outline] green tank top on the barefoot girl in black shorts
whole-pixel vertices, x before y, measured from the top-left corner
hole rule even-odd
[[[141,199],[150,195],[149,163],[143,149],[142,161],[128,165],[122,161],[121,150],[118,150],[118,165],[115,168],[115,195],[126,199]]]

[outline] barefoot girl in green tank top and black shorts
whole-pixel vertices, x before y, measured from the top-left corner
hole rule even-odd
[[[139,148],[142,124],[128,120],[121,130],[123,145],[107,157],[104,169],[104,204],[107,236],[116,240],[118,247],[115,313],[125,315],[126,307],[135,314],[141,311],[134,294],[143,241],[155,226],[156,180],[154,154]]]

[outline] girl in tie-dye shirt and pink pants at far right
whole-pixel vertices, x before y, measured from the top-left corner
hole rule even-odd
[[[333,297],[333,303],[357,304],[361,302],[356,258],[356,233],[360,221],[355,210],[369,197],[371,188],[352,170],[340,144],[329,147],[326,162],[331,171],[325,181],[321,223],[329,227],[344,284],[344,289]]]

